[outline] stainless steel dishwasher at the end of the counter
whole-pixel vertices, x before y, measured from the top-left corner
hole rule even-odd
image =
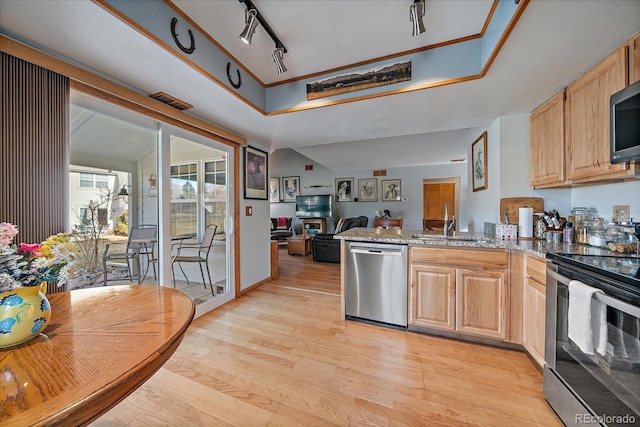
[[[407,246],[346,242],[345,314],[407,327]]]

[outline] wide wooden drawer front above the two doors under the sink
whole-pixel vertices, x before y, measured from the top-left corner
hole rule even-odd
[[[425,262],[475,269],[504,270],[509,266],[509,253],[501,249],[416,248],[409,249],[409,262]]]

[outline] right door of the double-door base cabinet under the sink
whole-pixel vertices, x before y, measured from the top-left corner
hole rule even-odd
[[[458,269],[456,330],[504,341],[507,339],[509,289],[505,273]]]

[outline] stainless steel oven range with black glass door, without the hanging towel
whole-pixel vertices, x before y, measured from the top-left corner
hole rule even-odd
[[[640,271],[637,257],[548,254],[544,396],[568,426],[640,425]],[[568,334],[569,283],[601,290],[602,354]],[[603,320],[604,322],[604,320]]]

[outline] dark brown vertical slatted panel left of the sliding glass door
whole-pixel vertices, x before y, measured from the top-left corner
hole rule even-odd
[[[37,243],[68,224],[69,79],[1,55],[0,222]]]

